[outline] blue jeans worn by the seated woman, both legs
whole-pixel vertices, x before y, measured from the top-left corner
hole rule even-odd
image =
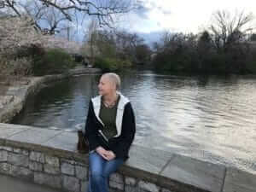
[[[123,159],[105,160],[96,152],[89,154],[89,184],[87,192],[108,192],[108,180],[124,163]]]

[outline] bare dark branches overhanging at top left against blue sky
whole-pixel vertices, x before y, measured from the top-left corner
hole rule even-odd
[[[114,21],[114,16],[129,12],[135,6],[134,0],[34,0],[36,5],[39,5],[38,16],[40,13],[45,13],[49,9],[54,9],[58,13],[58,18],[61,20],[75,20],[79,13],[83,15],[94,15],[99,21],[100,26],[111,26]],[[22,15],[20,3],[18,0],[2,0],[0,9],[9,9],[13,15]],[[42,9],[41,9],[42,8]],[[44,10],[44,11],[43,11]],[[30,11],[29,11],[30,12]],[[60,21],[55,20],[55,24]],[[55,25],[54,25],[55,26]]]

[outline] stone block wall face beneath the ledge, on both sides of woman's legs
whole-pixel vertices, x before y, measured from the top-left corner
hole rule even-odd
[[[0,173],[26,179],[66,192],[85,192],[89,168],[85,162],[34,151],[27,148],[0,146]],[[171,192],[135,177],[119,172],[109,179],[111,191]]]

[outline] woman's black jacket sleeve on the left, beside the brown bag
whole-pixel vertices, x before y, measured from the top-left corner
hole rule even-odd
[[[92,102],[90,101],[85,124],[85,137],[88,139],[90,151],[95,150],[97,147],[100,146],[100,143],[97,139],[97,130],[94,118],[95,113],[93,111]]]

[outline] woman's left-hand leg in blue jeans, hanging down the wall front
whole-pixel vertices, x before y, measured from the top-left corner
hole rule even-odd
[[[105,192],[108,189],[106,177],[103,176],[103,167],[106,160],[101,155],[93,152],[89,154],[89,185],[88,192]]]

